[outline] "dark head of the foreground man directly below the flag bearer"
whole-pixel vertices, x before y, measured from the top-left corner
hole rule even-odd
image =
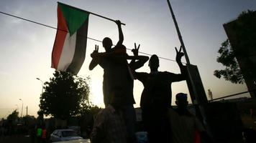
[[[111,91],[110,104],[115,109],[119,109],[124,104],[124,90],[116,87]]]

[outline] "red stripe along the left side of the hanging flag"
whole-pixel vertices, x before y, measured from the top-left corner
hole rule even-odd
[[[67,32],[68,26],[65,23],[63,13],[59,5],[58,5],[58,29],[61,29],[61,30],[57,30],[53,49],[52,49],[52,68],[55,68],[55,69],[58,68],[60,56],[63,51],[63,45],[65,42],[65,36],[68,34]]]

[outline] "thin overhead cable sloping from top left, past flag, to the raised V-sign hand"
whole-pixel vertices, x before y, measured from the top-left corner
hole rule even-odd
[[[24,19],[24,18],[22,18],[22,17],[14,16],[14,15],[12,15],[12,14],[7,14],[7,13],[2,12],[2,11],[0,11],[0,13],[1,13],[1,14],[5,14],[5,15],[7,15],[7,16],[12,16],[12,17],[17,18],[17,19],[22,19],[22,20],[24,20],[24,21],[29,21],[29,22],[32,22],[32,23],[34,23],[34,24],[39,24],[39,25],[41,25],[41,26],[46,26],[46,27],[51,28],[51,29],[56,29],[56,30],[68,32],[68,31],[63,30],[63,29],[58,29],[58,28],[55,28],[55,27],[53,27],[53,26],[49,26],[49,25],[46,25],[46,24],[42,24],[42,23],[39,23],[39,22],[36,22],[36,21],[32,21],[32,20],[29,20],[29,19]],[[83,35],[78,35],[78,36],[83,36]],[[87,38],[87,39],[90,39],[90,40],[93,40],[93,41],[102,42],[102,41],[100,41],[100,40],[98,40],[98,39],[93,39],[93,38],[90,38],[90,37],[88,37],[88,36],[87,36],[86,38]],[[128,49],[128,48],[127,48],[127,49]],[[128,50],[132,51],[132,49],[128,49]],[[145,55],[147,55],[147,56],[152,56],[152,54],[147,54],[147,53],[142,52],[142,51],[139,51],[139,53],[140,53],[140,54],[145,54]],[[164,57],[161,57],[161,56],[158,56],[158,57],[159,57],[159,59],[165,59],[165,60],[168,60],[168,61],[175,61],[175,60],[173,60],[173,59],[168,59],[168,58],[164,58]]]

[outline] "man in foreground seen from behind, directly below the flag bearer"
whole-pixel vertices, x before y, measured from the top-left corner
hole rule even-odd
[[[110,104],[97,114],[94,121],[91,143],[127,142],[127,129],[122,117],[123,96],[122,89],[111,90]]]

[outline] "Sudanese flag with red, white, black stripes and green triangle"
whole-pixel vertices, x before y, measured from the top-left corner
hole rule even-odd
[[[86,57],[89,13],[58,3],[58,30],[52,49],[52,68],[78,74]]]

